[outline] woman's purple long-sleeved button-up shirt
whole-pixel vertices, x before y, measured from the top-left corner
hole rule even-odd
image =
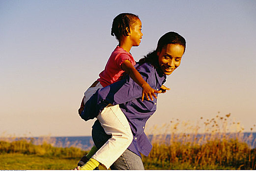
[[[136,64],[135,67],[142,75],[142,78],[156,90],[159,90],[166,81],[166,75],[151,64]],[[134,136],[128,149],[139,156],[141,156],[140,152],[147,156],[152,149],[152,145],[144,133],[144,128],[146,121],[156,111],[156,101],[157,99],[154,98],[153,101],[144,99],[142,102],[142,87],[127,76],[112,85],[98,89],[86,102],[85,110],[82,112],[81,117],[85,121],[93,119],[108,104],[119,104]],[[98,120],[92,128],[104,130]]]

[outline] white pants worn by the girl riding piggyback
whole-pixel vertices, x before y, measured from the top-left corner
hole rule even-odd
[[[85,91],[84,103],[97,91],[102,88],[98,83]],[[121,156],[130,146],[133,134],[126,116],[119,105],[109,104],[96,117],[105,132],[112,137],[92,156],[93,159],[103,164],[107,169]]]

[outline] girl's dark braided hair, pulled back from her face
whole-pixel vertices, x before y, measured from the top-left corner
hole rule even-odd
[[[130,33],[130,27],[133,27],[134,23],[139,17],[135,14],[121,13],[116,16],[112,23],[111,35],[120,41],[122,35],[128,36]],[[128,30],[126,30],[128,28]]]

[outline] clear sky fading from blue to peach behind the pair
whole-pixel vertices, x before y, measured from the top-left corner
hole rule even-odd
[[[77,109],[117,45],[111,25],[122,12],[142,21],[136,61],[168,31],[187,41],[147,127],[220,111],[248,131],[256,124],[255,9],[255,0],[1,0],[0,133],[90,135],[94,121]]]

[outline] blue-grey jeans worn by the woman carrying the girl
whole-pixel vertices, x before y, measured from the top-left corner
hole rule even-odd
[[[111,138],[111,135],[106,134],[97,129],[92,129],[92,139],[94,145],[100,149]],[[113,151],[114,152],[114,151]],[[106,156],[108,157],[108,156]],[[142,159],[134,152],[126,149],[124,153],[110,167],[111,170],[144,170]]]

